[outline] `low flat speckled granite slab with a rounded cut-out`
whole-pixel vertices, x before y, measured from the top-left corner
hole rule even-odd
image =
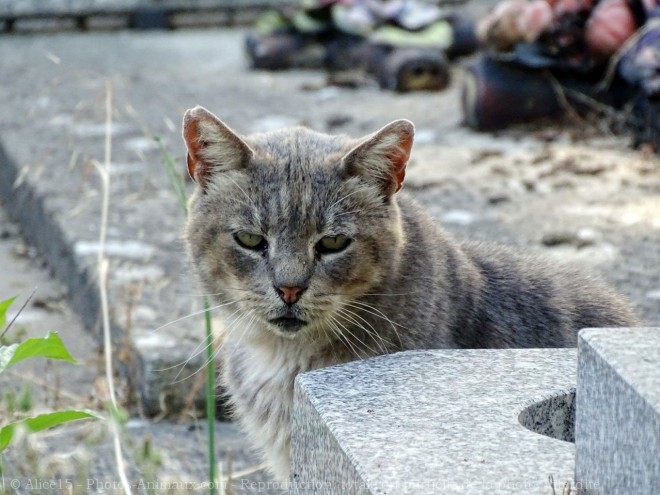
[[[552,476],[561,493],[575,375],[575,349],[410,351],[302,374],[291,491],[548,495]]]

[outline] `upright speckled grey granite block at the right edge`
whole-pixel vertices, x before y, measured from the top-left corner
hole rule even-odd
[[[660,493],[660,328],[578,341],[575,477],[583,493]]]

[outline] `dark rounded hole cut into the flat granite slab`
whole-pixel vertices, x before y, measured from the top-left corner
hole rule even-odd
[[[534,433],[575,443],[575,389],[526,407],[518,421]]]

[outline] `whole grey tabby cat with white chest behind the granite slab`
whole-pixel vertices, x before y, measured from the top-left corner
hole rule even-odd
[[[397,194],[413,133],[397,120],[360,140],[239,137],[204,108],[185,114],[189,256],[225,321],[222,382],[279,478],[301,371],[406,349],[575,346],[580,328],[635,321],[599,282],[459,243]]]

